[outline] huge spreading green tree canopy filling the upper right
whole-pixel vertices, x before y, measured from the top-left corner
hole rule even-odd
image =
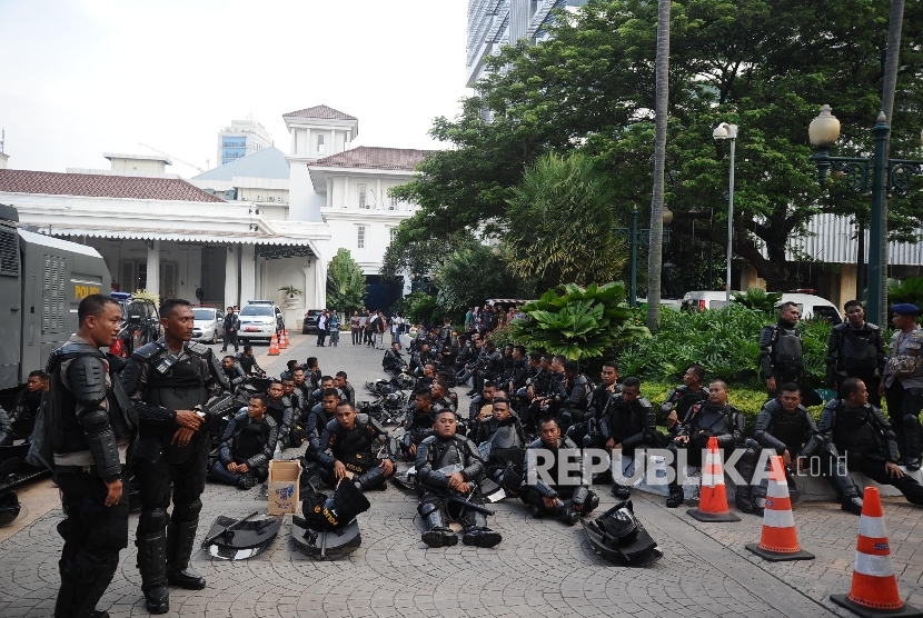
[[[590,0],[558,13],[548,40],[493,58],[495,71],[478,84],[479,96],[465,100],[456,119],[434,123],[430,134],[453,148],[429,157],[397,190],[420,205],[401,227],[437,237],[459,228],[498,232],[526,167],[546,152],[572,150],[611,175],[619,211],[637,206],[648,215],[657,8],[645,0]],[[712,140],[722,121],[741,127],[734,249],[770,289],[792,287],[787,245],[814,215],[867,219],[867,198],[842,182],[817,187],[806,127],[830,102],[843,122],[835,153],[871,152],[867,129],[881,107],[887,23],[887,3],[874,0],[673,3],[664,191],[676,215],[673,238],[688,233],[684,213],[711,207],[715,225],[696,233],[726,241],[728,162],[726,149]],[[901,40],[904,111],[893,119],[895,158],[916,149],[921,66],[923,3],[914,2]],[[921,215],[895,195],[891,238],[915,239]]]

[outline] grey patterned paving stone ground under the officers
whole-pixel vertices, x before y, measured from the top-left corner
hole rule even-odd
[[[346,370],[359,400],[363,388],[381,377],[384,352],[353,347],[315,347],[314,337],[295,336],[279,357],[260,359],[278,373],[289,358],[320,359],[325,373]],[[262,348],[261,350],[265,350]],[[463,390],[463,389],[458,389]],[[468,399],[462,397],[467,407]],[[292,449],[286,455],[295,455]],[[36,491],[52,492],[53,488]],[[219,515],[241,516],[265,508],[258,490],[208,485],[199,540]],[[599,488],[601,511],[614,499]],[[30,494],[30,495],[32,495]],[[701,524],[685,508],[666,509],[659,496],[635,492],[635,511],[659,542],[664,557],[647,568],[606,562],[589,548],[579,526],[533,519],[522,504],[495,505],[490,526],[504,535],[494,549],[465,546],[430,549],[419,538],[416,499],[389,487],[371,496],[371,510],[359,517],[361,547],[339,561],[312,561],[282,532],[261,556],[244,561],[193,555],[207,577],[200,591],[173,590],[171,616],[240,617],[513,617],[513,616],[848,616],[831,594],[850,589],[859,518],[836,505],[802,504],[795,521],[813,561],[770,564],[744,549],[757,541],[762,520],[743,516],[736,524]],[[48,500],[46,500],[48,502]],[[36,500],[39,505],[39,500]],[[37,507],[39,508],[39,507]],[[32,509],[30,521],[0,535],[0,616],[51,616],[59,584],[59,507]],[[892,559],[902,596],[923,606],[923,509],[902,499],[884,504]],[[34,518],[32,520],[32,518]],[[133,538],[137,515],[131,517]],[[9,531],[9,530],[7,530]],[[135,567],[133,545],[121,554],[101,608],[112,617],[147,616]]]

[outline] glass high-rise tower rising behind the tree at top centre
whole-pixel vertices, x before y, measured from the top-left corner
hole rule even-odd
[[[500,46],[514,44],[519,39],[539,41],[546,36],[545,26],[554,19],[552,9],[583,4],[586,0],[468,0],[468,88],[484,77],[485,58],[499,53]]]

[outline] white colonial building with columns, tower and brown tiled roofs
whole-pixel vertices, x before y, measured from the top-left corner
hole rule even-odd
[[[289,156],[262,148],[189,181],[152,156],[107,153],[110,169],[66,173],[0,167],[0,202],[23,226],[92,246],[120,291],[227,307],[284,305],[279,288],[294,286],[305,293],[287,303],[286,321],[298,328],[306,309],[326,306],[327,265],[346,248],[373,306],[387,308],[401,287],[379,283],[378,270],[414,211],[387,193],[426,151],[350,148],[358,121],[326,106],[284,118]]]

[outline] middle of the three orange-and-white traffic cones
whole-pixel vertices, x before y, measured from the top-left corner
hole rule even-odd
[[[801,548],[792,515],[792,499],[788,497],[788,481],[782,458],[774,455],[770,460],[770,487],[766,494],[766,508],[763,510],[763,535],[760,545],[748,542],[746,548],[763,558],[778,562],[782,560],[813,560],[814,555]]]

